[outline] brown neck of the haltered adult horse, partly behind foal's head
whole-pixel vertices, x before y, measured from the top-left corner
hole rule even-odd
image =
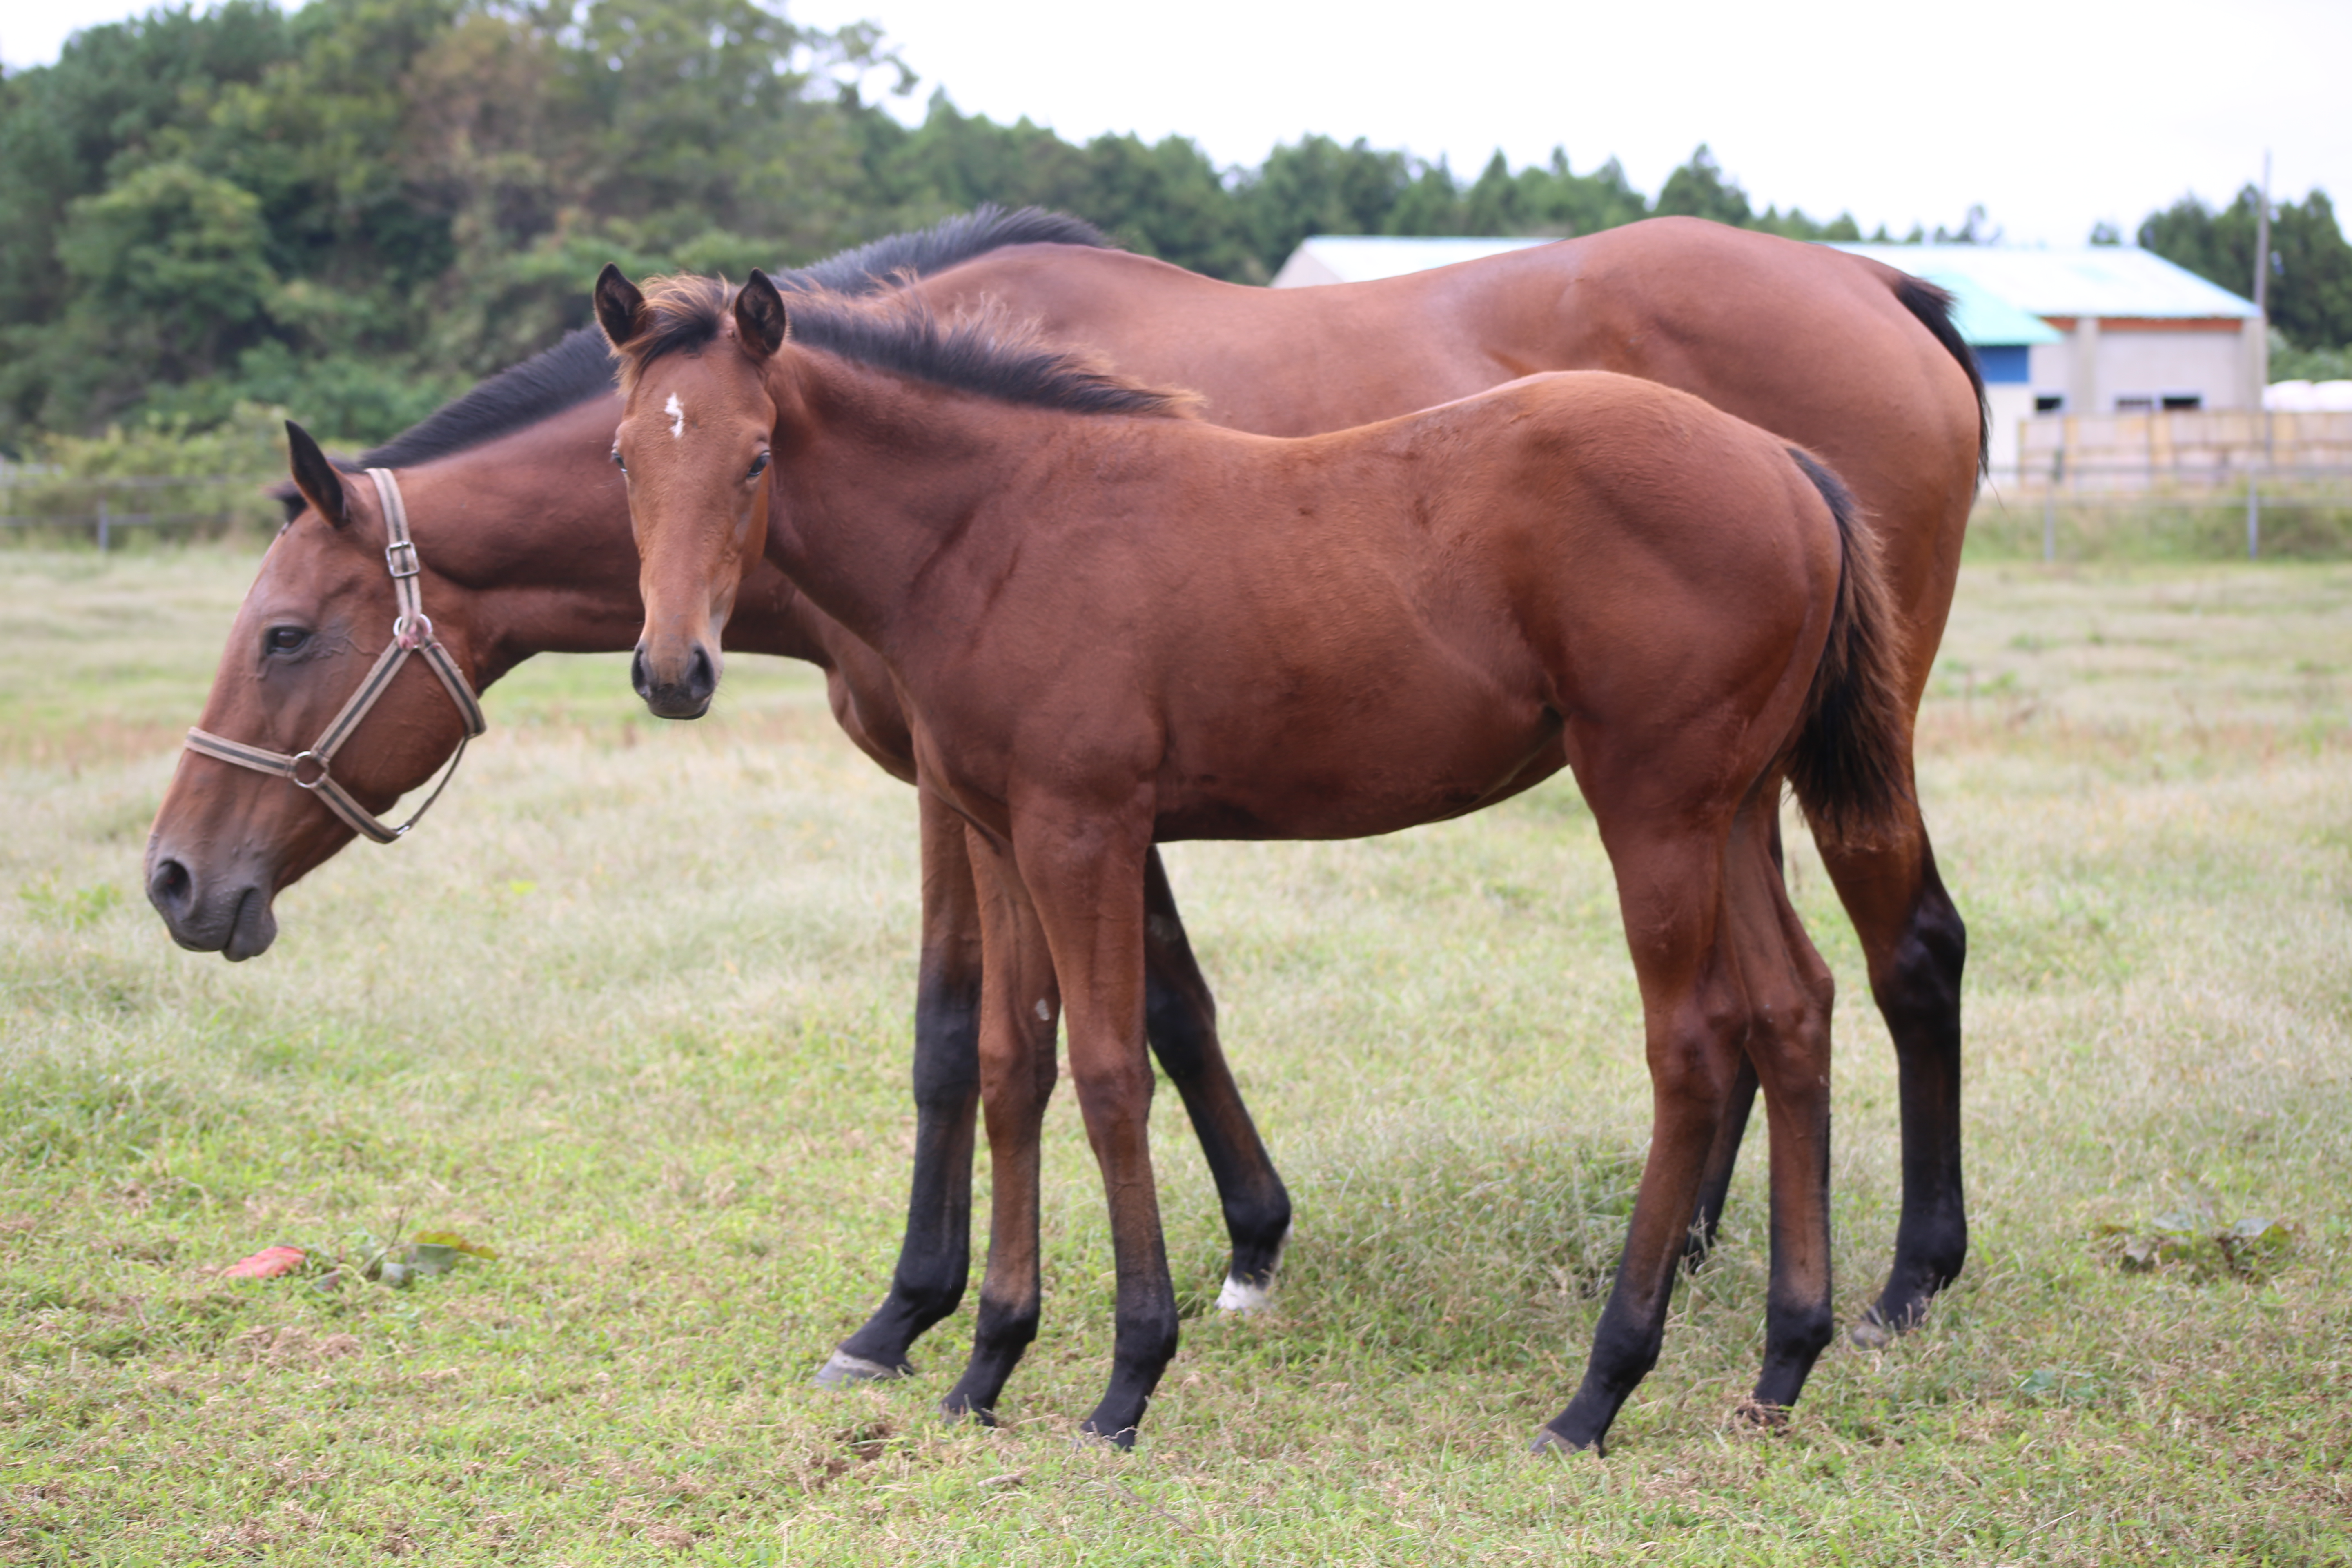
[[[628,487],[612,465],[619,418],[619,395],[595,397],[400,473],[419,555],[463,592],[477,684],[534,654],[635,646],[644,602]],[[821,616],[774,571],[746,585],[727,632],[736,649],[835,663]]]

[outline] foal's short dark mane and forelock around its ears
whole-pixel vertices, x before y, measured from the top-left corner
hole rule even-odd
[[[621,386],[633,386],[663,355],[694,353],[727,336],[734,296],[736,289],[717,277],[649,280],[637,336],[616,350]],[[1073,414],[1188,414],[1195,404],[1192,393],[1129,381],[1091,353],[1054,343],[1035,322],[1009,320],[1002,310],[943,322],[906,294],[861,301],[797,292],[786,299],[786,313],[790,343],[997,402]]]

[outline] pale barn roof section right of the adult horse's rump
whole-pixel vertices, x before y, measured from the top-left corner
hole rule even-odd
[[[2251,317],[2253,301],[2136,244],[1839,244],[1919,277],[1966,277],[2032,315]],[[1945,282],[1950,287],[1950,282]]]

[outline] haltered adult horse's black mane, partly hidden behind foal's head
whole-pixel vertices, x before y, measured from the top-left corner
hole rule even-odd
[[[1061,212],[1042,207],[1007,212],[995,205],[981,205],[929,228],[887,235],[802,270],[779,273],[776,287],[788,294],[880,294],[908,275],[922,277],[957,261],[1004,249],[1007,244],[1042,242],[1110,247],[1110,240],[1091,223]],[[802,308],[795,306],[795,320]],[[513,435],[543,418],[553,418],[612,388],[614,360],[604,346],[604,334],[595,327],[581,327],[564,334],[555,348],[499,371],[374,451],[360,454],[353,470],[407,468],[456,451],[470,451],[501,435]]]

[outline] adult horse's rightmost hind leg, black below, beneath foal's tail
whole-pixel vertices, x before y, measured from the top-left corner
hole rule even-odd
[[[1917,797],[1917,790],[1915,790]],[[1856,1338],[1884,1342],[1926,1316],[1929,1300],[1969,1255],[1959,1175],[1959,973],[1969,931],[1936,875],[1917,806],[1900,839],[1820,851],[1870,959],[1870,994],[1896,1046],[1903,1105],[1903,1218],[1886,1288]]]

